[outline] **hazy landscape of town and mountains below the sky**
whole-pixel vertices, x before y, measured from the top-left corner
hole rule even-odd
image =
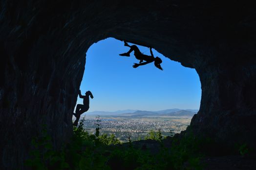
[[[128,114],[86,114],[84,128],[90,133],[95,133],[99,124],[100,135],[114,134],[122,142],[127,142],[128,137],[132,141],[144,139],[150,130],[159,131],[163,136],[173,136],[176,133],[186,130],[196,111],[179,110],[171,113],[136,111]]]

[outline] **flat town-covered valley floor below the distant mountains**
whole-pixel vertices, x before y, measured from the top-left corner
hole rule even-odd
[[[100,117],[101,133],[114,134],[122,142],[144,139],[150,130],[161,130],[162,135],[172,136],[186,130],[191,122],[190,116],[160,117]],[[95,116],[85,116],[84,128],[89,133],[95,132]]]

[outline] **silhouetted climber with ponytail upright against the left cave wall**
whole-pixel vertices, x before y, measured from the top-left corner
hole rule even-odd
[[[84,104],[77,104],[76,105],[76,113],[73,113],[73,115],[76,117],[76,120],[74,122],[74,125],[78,125],[78,121],[80,119],[80,116],[85,113],[89,109],[89,96],[91,99],[93,99],[93,95],[90,91],[86,91],[85,96],[82,96],[81,90],[79,90],[79,97],[84,99]]]

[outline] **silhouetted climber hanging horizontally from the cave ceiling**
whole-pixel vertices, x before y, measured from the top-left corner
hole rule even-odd
[[[136,45],[130,46],[130,45],[128,45],[128,43],[126,41],[124,41],[124,42],[125,42],[125,46],[129,47],[130,50],[128,52],[125,52],[125,53],[122,53],[122,54],[119,54],[119,55],[129,57],[130,53],[132,51],[134,51],[135,58],[140,60],[139,64],[138,63],[134,63],[134,65],[132,66],[133,68],[137,68],[139,66],[143,66],[143,65],[152,63],[154,61],[155,67],[163,70],[163,68],[161,68],[161,66],[160,66],[160,64],[162,63],[161,58],[154,57],[151,47],[149,48],[150,49],[150,54],[151,54],[151,56],[150,56],[150,55],[145,55],[145,54],[141,53],[141,51],[139,50],[139,48]],[[143,62],[143,60],[146,61],[146,62]]]

